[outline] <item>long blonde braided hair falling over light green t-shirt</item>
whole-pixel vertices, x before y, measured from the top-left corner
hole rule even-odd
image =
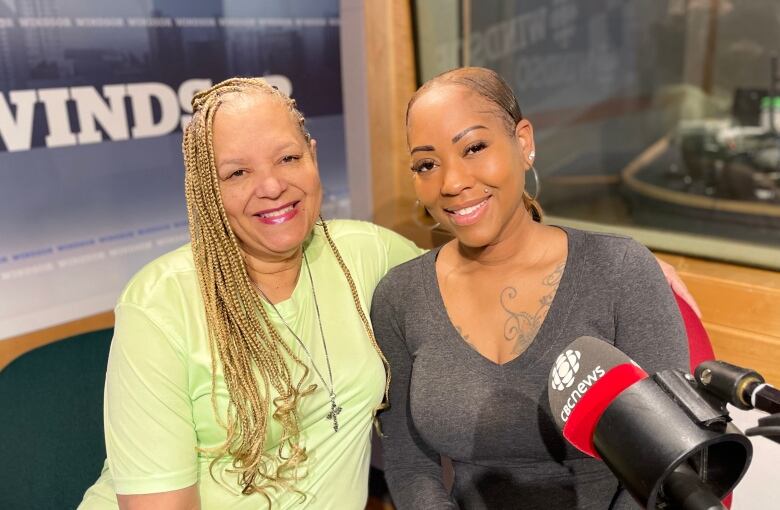
[[[247,272],[239,240],[230,228],[220,195],[214,161],[214,115],[231,94],[246,93],[268,94],[282,101],[309,142],[304,117],[293,99],[260,78],[232,78],[193,97],[193,116],[185,129],[182,149],[192,253],[211,346],[212,408],[227,432],[225,442],[209,451],[215,454],[210,470],[213,477],[217,461],[230,456],[233,460],[229,471],[237,473],[242,493],[258,493],[271,505],[271,490],[300,493],[294,484],[305,476],[301,468],[307,453],[299,444],[298,406],[300,399],[311,394],[316,385],[302,387],[309,369],[281,339],[268,317]],[[387,360],[379,351],[360,306],[352,277],[324,223],[323,229],[347,277],[366,331],[387,368]],[[218,358],[230,397],[226,421],[217,409]],[[293,381],[287,360],[302,367],[303,375],[298,381]],[[388,385],[389,370],[385,399]],[[282,426],[282,437],[274,455],[265,451],[272,390],[278,394],[273,399],[272,417]]]

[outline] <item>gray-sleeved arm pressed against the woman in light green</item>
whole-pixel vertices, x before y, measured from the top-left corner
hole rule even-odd
[[[442,481],[441,457],[420,437],[409,412],[412,359],[392,305],[391,282],[374,294],[371,319],[390,363],[390,408],[380,414],[385,478],[397,508],[457,509]]]

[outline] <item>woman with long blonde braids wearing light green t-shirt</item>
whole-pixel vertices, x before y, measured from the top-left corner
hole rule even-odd
[[[374,287],[421,251],[319,220],[316,142],[261,79],[193,99],[191,245],[123,291],[105,395],[107,461],[82,509],[363,509],[386,371]]]

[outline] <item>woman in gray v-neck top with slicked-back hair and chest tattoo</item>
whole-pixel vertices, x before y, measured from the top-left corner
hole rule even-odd
[[[380,421],[396,506],[638,508],[557,431],[547,380],[583,335],[648,372],[688,366],[656,260],[629,238],[540,222],[524,189],[533,129],[493,71],[456,69],[423,85],[407,137],[417,196],[455,239],[393,269],[374,294],[392,371]],[[453,463],[451,491],[442,457]]]

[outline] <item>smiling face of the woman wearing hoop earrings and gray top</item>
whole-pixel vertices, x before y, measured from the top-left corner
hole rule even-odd
[[[469,88],[437,85],[409,110],[407,138],[417,197],[458,241],[479,248],[500,240],[529,213],[523,205],[533,132]]]

